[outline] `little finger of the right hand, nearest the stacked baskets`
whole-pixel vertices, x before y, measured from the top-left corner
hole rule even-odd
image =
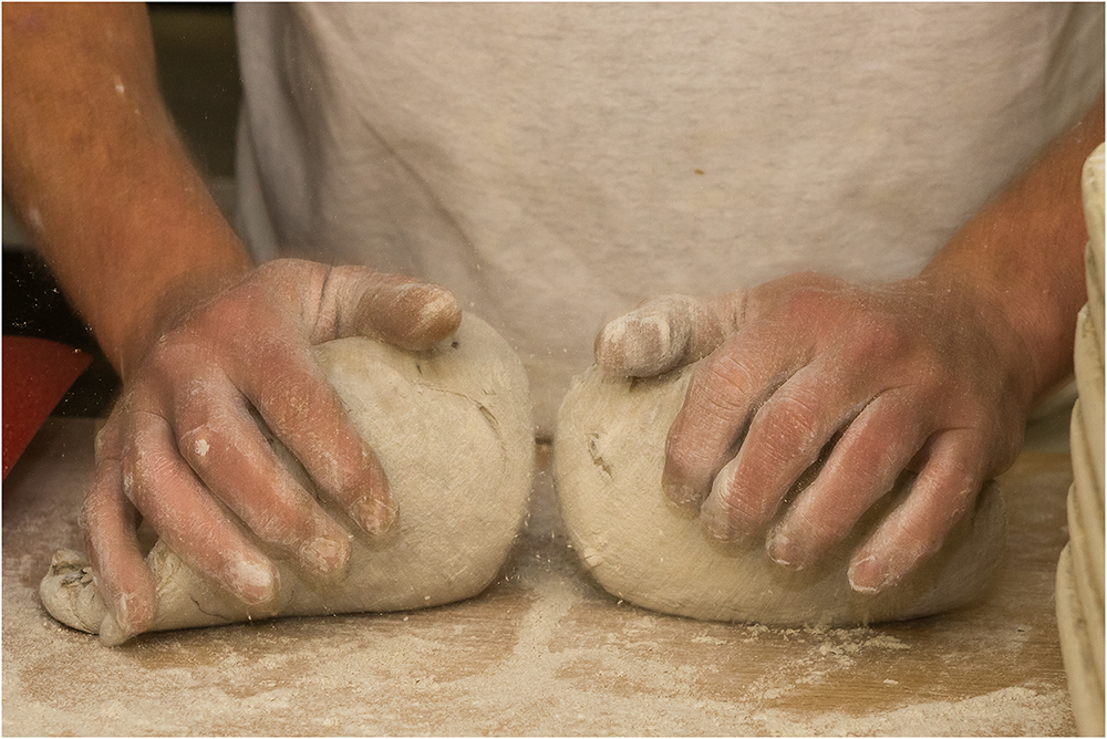
[[[907,500],[853,555],[853,590],[879,593],[899,583],[941,548],[980,492],[984,471],[971,431],[944,431],[930,444],[929,459]]]

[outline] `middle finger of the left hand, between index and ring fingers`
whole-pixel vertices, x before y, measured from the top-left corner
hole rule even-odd
[[[278,461],[238,392],[196,383],[174,413],[180,455],[204,483],[266,543],[306,568],[330,574],[345,568],[345,531]]]

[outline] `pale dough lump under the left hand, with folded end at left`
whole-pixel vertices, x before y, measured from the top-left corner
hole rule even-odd
[[[399,527],[371,541],[323,501],[352,538],[345,580],[318,582],[277,560],[280,592],[266,608],[226,595],[158,542],[146,558],[157,582],[153,631],[418,608],[476,595],[498,573],[527,511],[535,458],[527,377],[507,342],[466,314],[431,352],[358,337],[323,344],[318,356],[389,475]],[[313,490],[288,450],[271,443]],[[40,593],[59,621],[100,631],[106,608],[82,554],[55,554]]]

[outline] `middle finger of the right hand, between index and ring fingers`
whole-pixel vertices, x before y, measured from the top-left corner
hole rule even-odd
[[[857,415],[852,391],[848,378],[825,363],[808,365],[784,383],[753,417],[737,455],[715,476],[700,511],[704,528],[732,540],[766,524],[835,433]]]

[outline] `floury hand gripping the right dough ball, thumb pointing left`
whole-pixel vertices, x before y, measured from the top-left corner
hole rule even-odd
[[[1021,446],[1031,363],[994,304],[922,278],[862,288],[796,274],[713,300],[646,301],[604,327],[596,357],[627,376],[706,357],[669,433],[662,485],[720,539],[765,527],[834,443],[767,533],[785,566],[814,563],[904,469],[918,471],[852,555],[852,587],[876,593],[941,547]]]

